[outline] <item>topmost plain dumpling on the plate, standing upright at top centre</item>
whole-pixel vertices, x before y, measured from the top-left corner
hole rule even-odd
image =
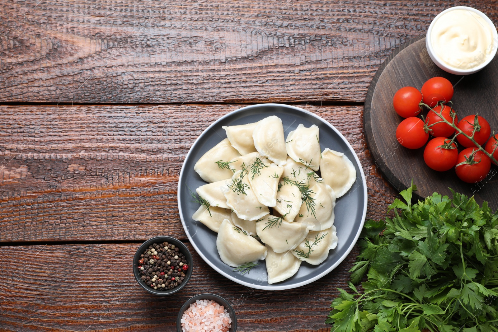
[[[260,155],[278,166],[285,165],[287,150],[285,150],[282,120],[278,116],[271,115],[257,122],[252,138]]]

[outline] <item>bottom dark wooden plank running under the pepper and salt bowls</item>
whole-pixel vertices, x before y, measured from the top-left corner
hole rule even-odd
[[[156,235],[155,231],[149,233]],[[334,271],[287,291],[251,289],[222,277],[189,246],[194,273],[182,291],[156,297],[139,287],[131,262],[139,244],[0,247],[0,331],[175,330],[190,297],[215,293],[234,306],[238,331],[328,332],[324,323],[336,287],[346,288],[354,250]],[[20,258],[22,256],[22,259]]]

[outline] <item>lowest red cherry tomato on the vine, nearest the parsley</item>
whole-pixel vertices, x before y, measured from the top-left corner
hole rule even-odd
[[[469,158],[472,152],[477,150],[475,147],[469,147],[458,155],[457,166],[455,171],[460,180],[467,183],[476,183],[483,180],[491,170],[491,159],[483,151],[477,151],[474,158]],[[470,159],[469,161],[467,161]],[[462,164],[467,162],[466,164]]]

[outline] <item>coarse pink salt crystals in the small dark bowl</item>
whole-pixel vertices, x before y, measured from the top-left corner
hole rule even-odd
[[[197,300],[183,313],[183,332],[228,332],[230,314],[215,301]]]

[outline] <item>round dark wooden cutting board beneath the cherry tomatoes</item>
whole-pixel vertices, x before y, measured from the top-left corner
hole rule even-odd
[[[420,197],[434,192],[449,195],[449,188],[468,196],[475,196],[482,204],[488,201],[498,209],[498,168],[492,166],[488,177],[477,184],[467,184],[451,169],[437,172],[424,163],[424,147],[410,150],[399,145],[396,127],[403,119],[396,114],[392,98],[396,91],[405,86],[420,90],[428,79],[442,76],[454,86],[453,109],[458,117],[478,113],[491,125],[492,132],[498,132],[498,57],[478,73],[468,76],[449,74],[429,57],[425,38],[418,38],[401,45],[383,62],[370,84],[365,101],[365,135],[376,167],[398,191],[410,186],[411,180],[417,186]],[[427,111],[424,111],[424,115]],[[429,138],[430,139],[430,138]],[[459,151],[462,148],[459,147]]]

